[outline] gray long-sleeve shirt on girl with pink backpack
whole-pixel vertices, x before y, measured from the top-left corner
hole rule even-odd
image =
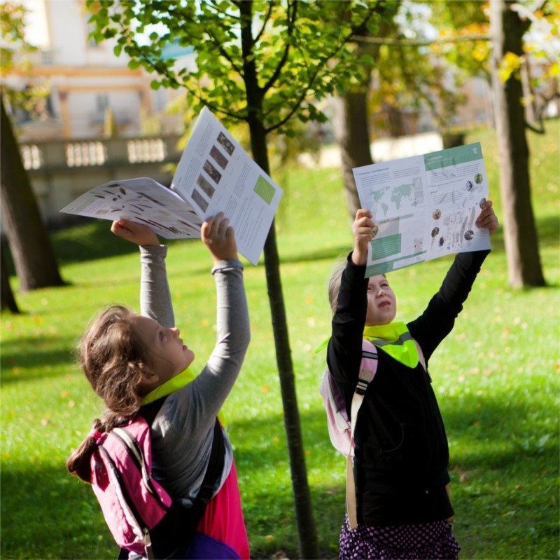
[[[141,314],[174,326],[164,245],[140,247]],[[221,261],[212,269],[216,280],[217,341],[207,364],[194,381],[173,392],[152,424],[153,474],[176,500],[190,505],[207,470],[214,423],[232,389],[248,347],[250,332],[240,261]],[[233,454],[224,431],[225,463],[217,492],[230,473]]]

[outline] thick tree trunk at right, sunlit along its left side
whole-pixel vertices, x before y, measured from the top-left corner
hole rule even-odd
[[[514,287],[543,286],[538,238],[531,205],[528,144],[522,104],[523,90],[517,76],[503,83],[498,64],[507,52],[523,55],[523,34],[528,27],[512,11],[512,0],[493,0],[491,9],[491,62],[494,114],[500,154],[502,197],[508,282]]]

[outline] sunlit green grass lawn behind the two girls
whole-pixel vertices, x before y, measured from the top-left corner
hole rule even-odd
[[[500,231],[465,309],[430,360],[451,451],[454,531],[461,559],[559,557],[560,196],[559,123],[529,132],[533,210],[547,287],[507,286]],[[495,134],[481,142],[498,217]],[[351,248],[351,220],[338,169],[274,175],[285,194],[276,218],[283,292],[297,383],[307,473],[321,558],[338,553],[344,458],[328,442],[318,385],[329,334],[326,285]],[[108,221],[52,235],[65,287],[27,294],[22,315],[1,315],[1,558],[112,559],[91,489],[64,461],[102,406],[71,350],[92,314],[108,303],[137,308],[137,250]],[[214,346],[211,259],[200,240],[173,242],[167,257],[176,322],[195,348],[193,369]],[[398,320],[411,320],[439,287],[451,257],[391,275]],[[274,341],[262,261],[246,265],[252,341],[225,404],[246,525],[255,558],[297,558],[297,530]]]

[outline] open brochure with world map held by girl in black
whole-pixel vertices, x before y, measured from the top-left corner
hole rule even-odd
[[[490,248],[475,221],[488,197],[479,143],[353,170],[360,204],[375,224],[367,277]]]

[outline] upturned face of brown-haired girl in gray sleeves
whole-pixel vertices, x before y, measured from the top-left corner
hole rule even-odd
[[[195,354],[183,344],[183,340],[179,338],[181,332],[176,327],[162,327],[150,317],[137,315],[134,331],[146,346],[146,354],[150,360],[148,365],[156,377],[146,384],[146,388],[155,388],[165,383],[193,363]]]

